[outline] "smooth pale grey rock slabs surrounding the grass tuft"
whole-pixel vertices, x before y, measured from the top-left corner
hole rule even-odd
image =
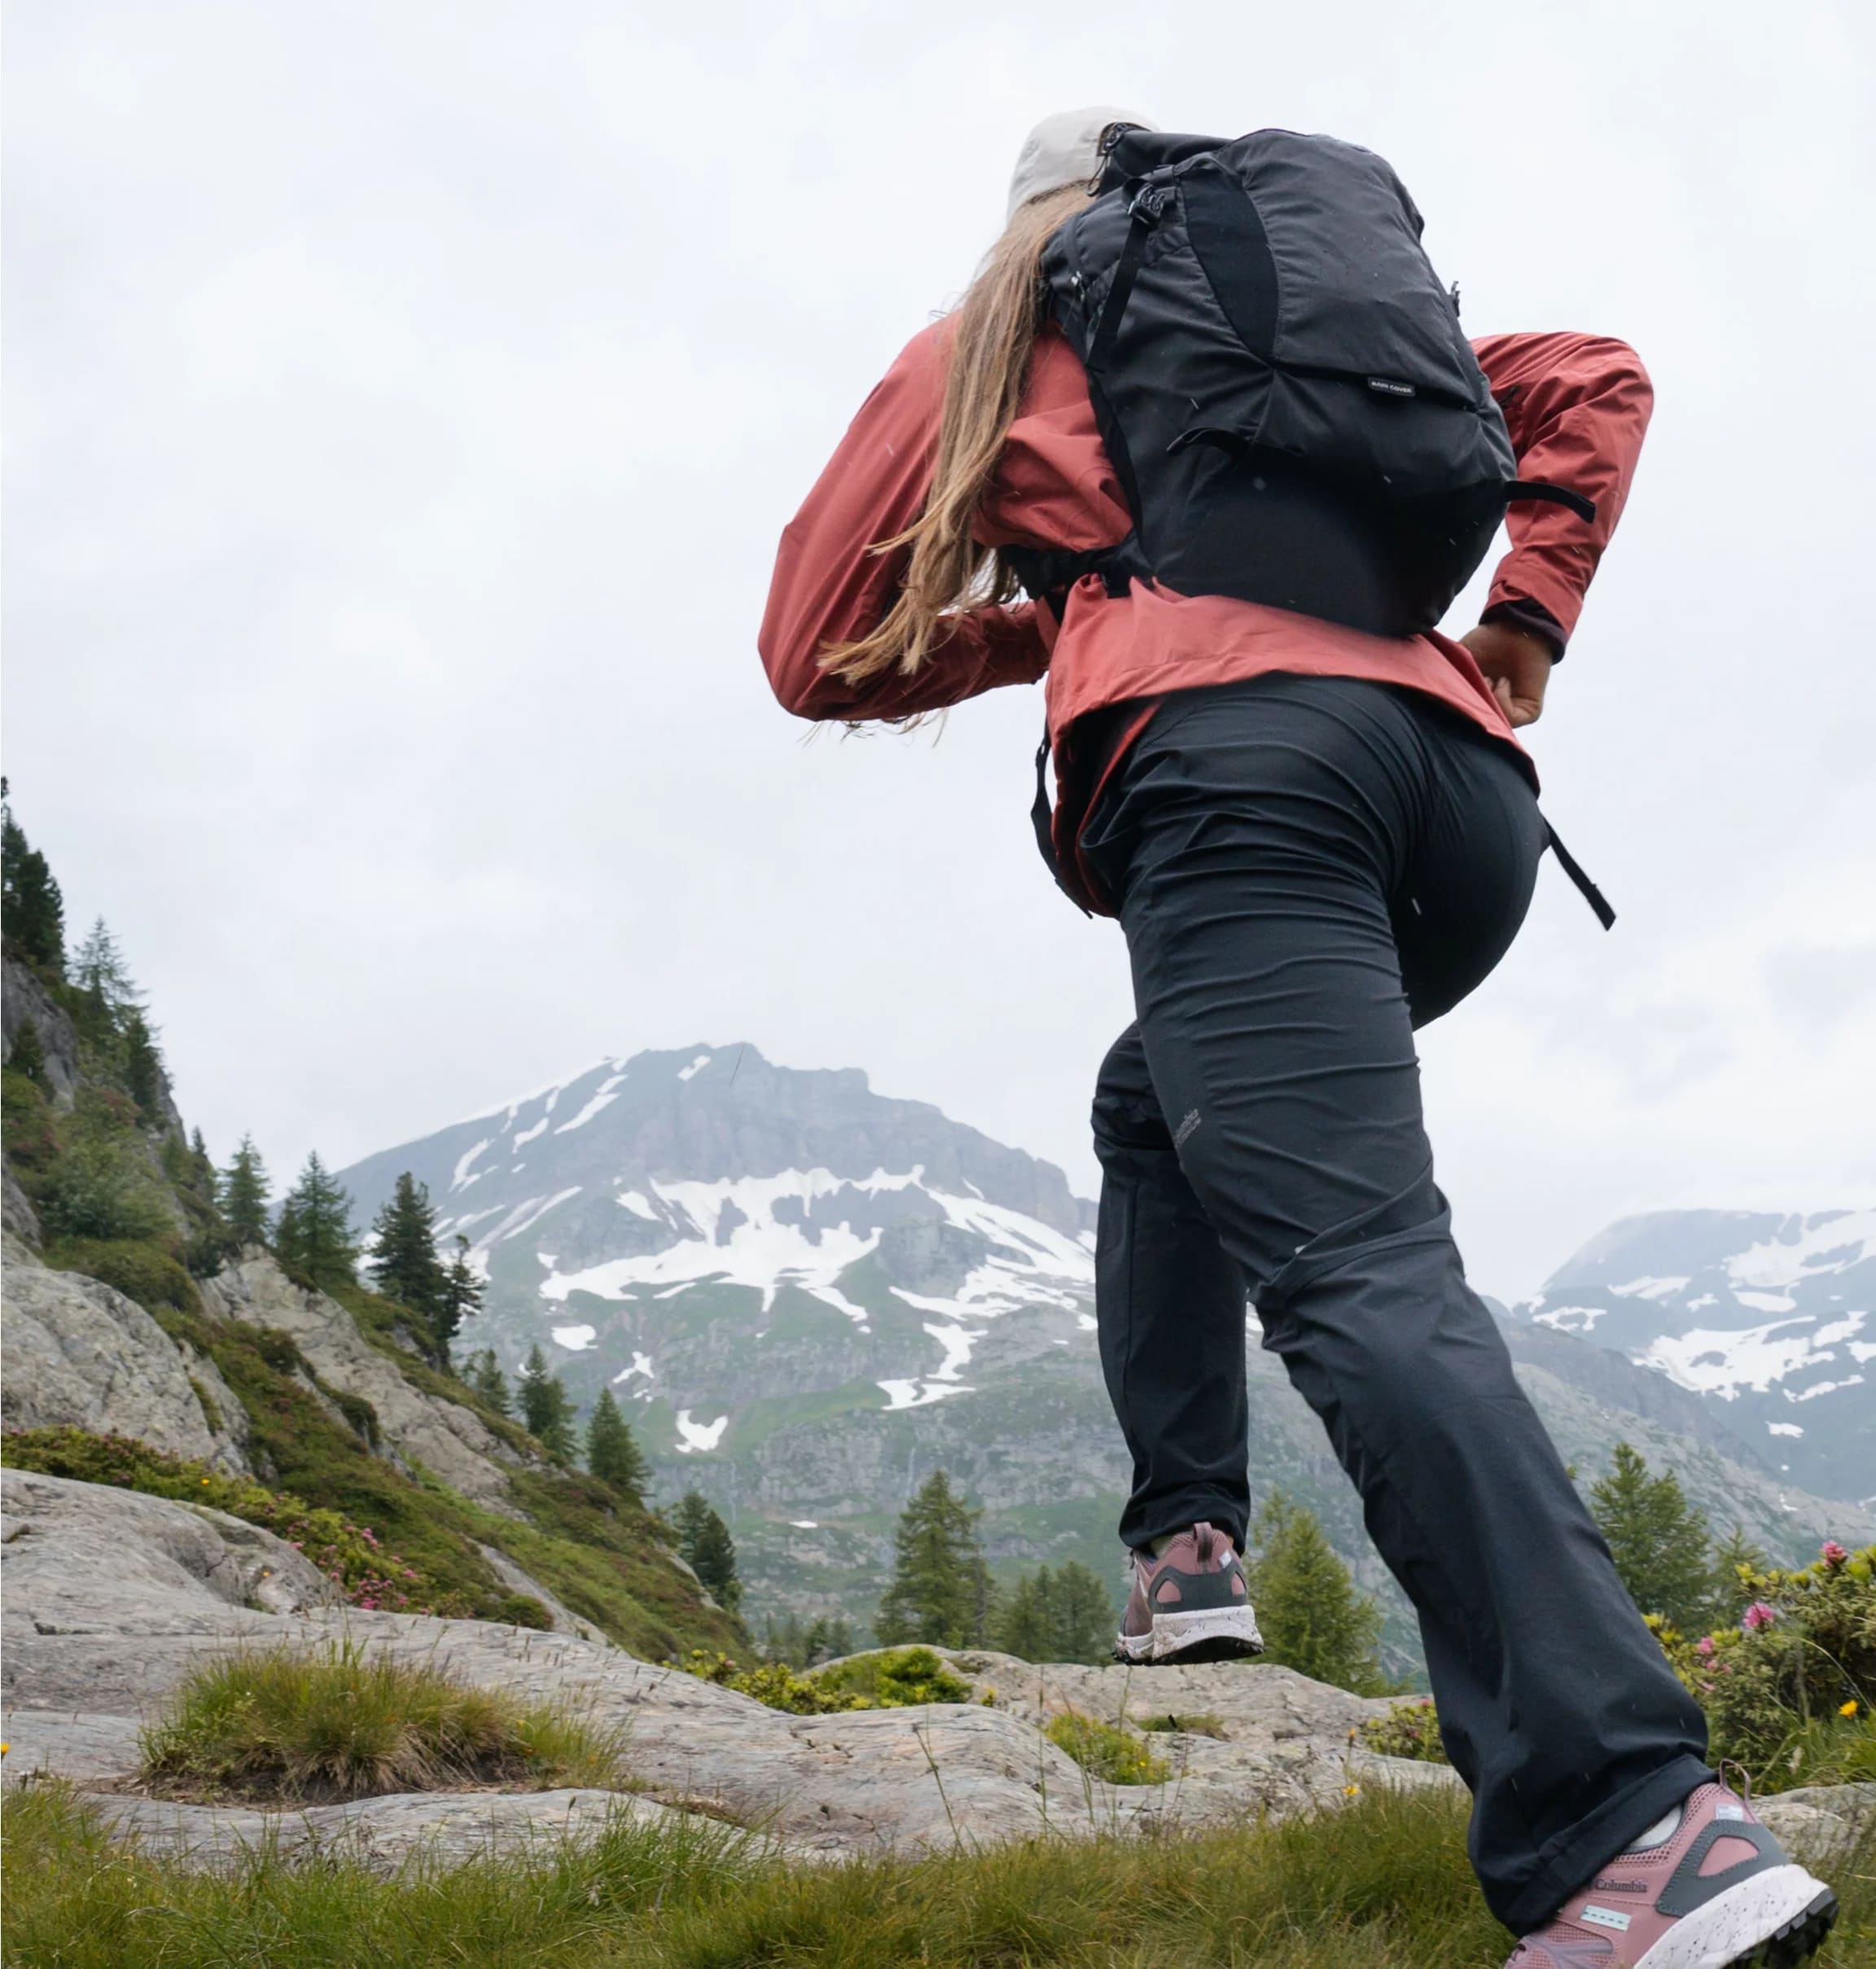
[[[287,1861],[348,1849],[388,1871],[417,1849],[447,1861],[543,1833],[581,1837],[620,1811],[728,1819],[799,1859],[927,1853],[1285,1815],[1337,1806],[1350,1786],[1457,1784],[1443,1766],[1352,1748],[1348,1733],[1386,1705],[1285,1668],[1073,1668],[965,1652],[949,1660],[970,1703],[795,1717],[573,1632],[335,1607],[297,1552],[215,1510],[12,1469],[0,1496],[8,1784],[65,1778],[146,1851],[193,1865],[272,1843]],[[140,1727],[193,1664],[341,1636],[624,1731],[632,1790],[425,1792],[309,1810],[140,1794]],[[1156,1735],[1167,1782],[1110,1786],[1043,1735],[1063,1709],[1134,1723],[1203,1715],[1220,1735]],[[1876,1786],[1862,1786],[1787,1794],[1768,1817],[1819,1853],[1872,1810]]]

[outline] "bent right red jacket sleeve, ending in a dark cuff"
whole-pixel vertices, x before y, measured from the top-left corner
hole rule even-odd
[[[1504,412],[1520,478],[1547,478],[1596,502],[1596,518],[1520,500],[1506,526],[1512,551],[1498,563],[1488,618],[1543,632],[1563,654],[1602,549],[1622,518],[1654,388],[1642,358],[1602,335],[1484,335],[1472,343]]]

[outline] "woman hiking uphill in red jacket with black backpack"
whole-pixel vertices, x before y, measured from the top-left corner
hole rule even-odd
[[[1707,1766],[1465,1282],[1413,1051],[1530,904],[1551,837],[1514,730],[1650,384],[1602,337],[1467,345],[1417,240],[1394,173],[1327,138],[1039,124],[963,303],[783,534],[762,658],[809,719],[1047,677],[1047,849],[1118,916],[1138,1014],[1094,1091],[1134,1459],[1116,1654],[1258,1652],[1248,1298],[1419,1615],[1512,1963],[1776,1969],[1835,1898]],[[1449,640],[1500,518],[1484,616]]]

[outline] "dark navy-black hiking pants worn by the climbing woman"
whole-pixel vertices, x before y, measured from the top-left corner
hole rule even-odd
[[[1242,1546],[1248,1296],[1419,1615],[1512,1930],[1709,1774],[1465,1282],[1421,1122],[1413,1028],[1510,947],[1543,839],[1510,750],[1455,713],[1291,675],[1167,699],[1083,835],[1138,1010],[1094,1095],[1120,1536],[1209,1518]]]

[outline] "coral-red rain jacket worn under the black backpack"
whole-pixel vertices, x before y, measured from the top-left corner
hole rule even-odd
[[[906,719],[1047,675],[1061,788],[1055,851],[1065,886],[1094,910],[1104,908],[1102,898],[1073,853],[1081,819],[1167,691],[1272,669],[1368,677],[1425,691],[1526,756],[1470,650],[1449,636],[1364,636],[1224,595],[1175,595],[1157,583],[1136,581],[1110,597],[1094,575],[1069,591],[1061,622],[1039,603],[953,616],[911,677],[888,673],[850,685],[823,669],[819,658],[831,644],[868,634],[892,606],[907,555],[868,547],[904,532],[923,510],[951,335],[953,319],[945,319],[906,345],[782,536],[758,646],[785,709],[805,719]],[[1512,545],[1486,601],[1488,616],[1535,628],[1561,654],[1622,514],[1654,392],[1636,352],[1608,337],[1486,335],[1472,349],[1504,412],[1518,476],[1596,502],[1591,526],[1557,506],[1514,506]],[[1094,425],[1087,372],[1047,327],[976,538],[986,547],[1085,551],[1114,545],[1130,526]],[[1091,729],[1081,721],[1116,705],[1138,705],[1138,717],[1120,723],[1118,742],[1106,719],[1102,744],[1077,752],[1077,727]]]

